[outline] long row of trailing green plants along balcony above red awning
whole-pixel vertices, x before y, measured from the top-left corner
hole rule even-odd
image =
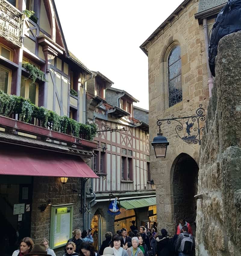
[[[19,114],[21,120],[29,122],[31,118],[41,121],[42,127],[47,127],[47,123],[53,124],[53,130],[75,137],[83,134],[86,140],[92,141],[96,135],[97,126],[92,124],[81,124],[74,119],[68,118],[66,115],[60,116],[56,112],[46,109],[45,107],[35,106],[30,99],[16,95],[9,95],[0,90],[0,115],[10,117],[12,114]]]

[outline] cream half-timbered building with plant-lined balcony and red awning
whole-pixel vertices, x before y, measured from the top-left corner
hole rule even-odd
[[[63,255],[83,227],[82,178],[98,178],[86,164],[95,127],[83,125],[95,74],[68,51],[54,1],[2,0],[0,8],[0,254],[30,236]]]

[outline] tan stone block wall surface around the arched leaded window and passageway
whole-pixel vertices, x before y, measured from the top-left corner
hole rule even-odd
[[[209,93],[207,83],[207,65],[202,25],[199,26],[194,14],[197,12],[196,0],[189,1],[180,11],[175,21],[167,24],[163,32],[147,45],[149,62],[149,131],[150,141],[156,136],[158,127],[156,120],[193,115],[199,104],[207,109]],[[169,108],[167,83],[167,58],[174,44],[181,47],[182,91],[183,100]],[[199,164],[199,145],[186,144],[176,137],[177,123],[162,122],[161,129],[170,145],[166,158],[156,159],[150,145],[150,169],[156,184],[158,230],[167,228],[171,234],[175,232],[177,222],[174,204],[174,169],[175,161],[181,153],[191,156]],[[185,124],[184,133],[185,133]],[[202,124],[201,124],[202,125]],[[191,171],[191,170],[190,170]],[[188,217],[188,216],[185,216]]]

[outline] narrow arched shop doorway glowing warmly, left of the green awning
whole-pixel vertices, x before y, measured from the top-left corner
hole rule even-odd
[[[102,229],[103,229],[103,224],[102,224],[102,217],[101,214],[97,211],[95,212],[95,215],[92,218],[91,221],[91,228],[92,228],[92,236],[94,239],[94,248],[99,251],[100,246],[102,244],[102,239],[103,239],[103,234],[102,234]]]

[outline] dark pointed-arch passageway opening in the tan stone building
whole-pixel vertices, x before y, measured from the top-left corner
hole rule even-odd
[[[179,220],[185,218],[192,226],[195,235],[196,199],[199,167],[186,153],[181,153],[173,163],[173,203],[176,229]]]

